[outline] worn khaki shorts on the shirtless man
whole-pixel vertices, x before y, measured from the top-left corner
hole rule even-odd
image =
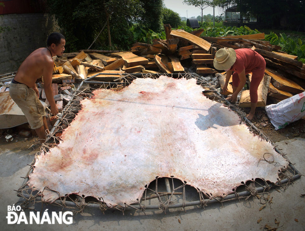
[[[20,107],[32,129],[43,126],[42,117],[46,115],[45,109],[32,88],[22,83],[11,83],[10,96]]]

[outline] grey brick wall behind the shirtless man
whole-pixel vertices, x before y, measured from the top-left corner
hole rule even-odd
[[[0,74],[16,71],[31,52],[46,47],[50,33],[59,31],[48,13],[0,15],[0,26],[11,28],[0,34]]]

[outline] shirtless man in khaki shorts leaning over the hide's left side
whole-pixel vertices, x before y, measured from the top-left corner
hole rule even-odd
[[[51,114],[57,115],[58,108],[52,91],[53,56],[61,56],[65,50],[65,37],[57,32],[49,35],[47,47],[34,50],[21,64],[10,86],[10,96],[21,108],[40,143],[45,142],[48,129],[45,109],[39,100],[36,80],[43,76],[45,96],[51,106]]]

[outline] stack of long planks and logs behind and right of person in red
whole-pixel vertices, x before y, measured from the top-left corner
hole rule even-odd
[[[271,45],[269,41],[263,41],[265,39],[264,33],[201,38],[211,42],[212,47],[217,49],[224,47],[233,49],[250,48],[262,55],[266,61],[265,74],[270,76],[267,94],[273,101],[281,101],[305,91],[304,65],[297,60],[297,56],[281,51],[280,46]],[[241,106],[248,105],[246,98],[246,96],[241,97]]]

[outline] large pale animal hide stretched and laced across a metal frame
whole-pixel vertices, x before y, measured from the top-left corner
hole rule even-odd
[[[174,176],[214,197],[246,180],[276,182],[284,158],[202,90],[195,79],[161,76],[95,91],[81,101],[63,141],[37,156],[29,186],[44,190],[47,202],[75,193],[111,206],[137,202],[156,176]],[[259,161],[264,153],[276,163]]]

